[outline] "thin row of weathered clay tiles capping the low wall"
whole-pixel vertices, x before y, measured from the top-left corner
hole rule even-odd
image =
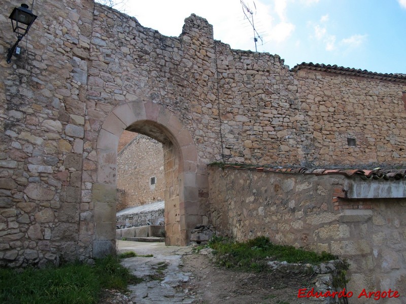
[[[309,168],[266,168],[266,167],[245,167],[224,165],[226,168],[232,169],[248,169],[264,172],[280,172],[280,173],[292,173],[292,174],[315,174],[315,175],[333,175],[339,174],[346,177],[359,176],[362,179],[402,179],[406,178],[406,169],[374,169],[374,170],[361,170],[361,169],[309,169]]]

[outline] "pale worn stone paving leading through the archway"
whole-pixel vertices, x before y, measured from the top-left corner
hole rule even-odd
[[[190,254],[190,247],[165,246],[164,243],[142,243],[117,241],[118,251],[134,251],[139,255],[153,254],[153,257],[130,257],[122,264],[137,277],[144,278],[138,285],[130,285],[131,301],[137,304],[149,303],[192,303],[194,296],[183,290],[182,283],[189,280],[190,273],[179,268],[181,257]]]

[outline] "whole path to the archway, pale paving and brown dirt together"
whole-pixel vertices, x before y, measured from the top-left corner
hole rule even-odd
[[[311,286],[313,278],[286,276],[278,272],[253,274],[218,268],[206,255],[192,253],[191,247],[164,246],[162,243],[118,242],[119,252],[132,250],[139,255],[123,264],[144,282],[129,286],[130,292],[106,292],[100,303],[149,304],[293,304],[321,300],[297,298],[299,288]]]

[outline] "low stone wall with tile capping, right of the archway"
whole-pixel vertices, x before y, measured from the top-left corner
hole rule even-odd
[[[406,199],[337,200],[335,189],[348,180],[342,175],[218,167],[209,173],[209,220],[220,235],[239,241],[267,236],[278,244],[348,258],[348,290],[358,295],[363,288],[391,288],[401,295],[391,303],[406,299]]]

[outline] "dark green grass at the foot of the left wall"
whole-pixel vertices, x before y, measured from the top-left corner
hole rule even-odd
[[[140,282],[113,256],[96,260],[94,266],[77,262],[59,268],[0,269],[0,303],[93,304],[103,289],[124,291]]]

